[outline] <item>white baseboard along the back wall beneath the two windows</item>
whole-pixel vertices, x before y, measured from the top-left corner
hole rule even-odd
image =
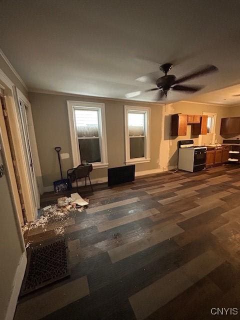
[[[164,171],[168,171],[171,169],[174,169],[175,166],[170,166],[170,167],[164,167],[164,168],[156,168],[156,169],[151,169],[151,170],[144,170],[144,171],[135,171],[135,176],[142,176],[142,175],[149,175],[149,174],[156,174]],[[101,178],[96,178],[96,179],[91,179],[92,184],[97,184],[97,183],[104,183],[107,182],[107,176],[101,177]],[[89,185],[89,180],[87,179],[86,184]],[[80,180],[78,181],[78,185],[85,185],[85,180]],[[76,187],[76,182],[72,183],[73,187]],[[53,191],[53,185],[48,185],[43,187],[44,192],[51,192]]]

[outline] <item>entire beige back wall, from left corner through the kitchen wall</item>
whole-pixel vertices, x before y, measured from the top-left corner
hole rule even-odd
[[[180,139],[194,139],[198,143],[198,136],[191,135],[191,126],[187,126],[187,135],[171,137],[170,120],[173,113],[202,114],[202,112],[217,112],[216,138],[222,142],[220,132],[221,117],[226,116],[226,107],[176,102],[166,106],[154,103],[129,102],[124,100],[104,99],[95,97],[81,97],[59,94],[45,94],[28,92],[32,105],[32,116],[36,133],[37,148],[45,187],[52,186],[52,181],[59,179],[59,168],[55,146],[61,146],[62,152],[70,154],[68,159],[62,159],[64,176],[66,170],[72,167],[70,133],[67,115],[67,100],[95,101],[105,103],[107,153],[109,167],[124,165],[124,105],[139,105],[150,107],[150,157],[148,163],[136,164],[136,172],[146,170],[167,170],[177,165],[177,141]],[[207,143],[206,136],[203,142]],[[107,176],[107,169],[94,169],[92,178]]]

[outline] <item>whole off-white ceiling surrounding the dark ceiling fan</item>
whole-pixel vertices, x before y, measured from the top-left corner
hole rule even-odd
[[[217,94],[203,93],[240,83],[239,0],[0,4],[0,47],[29,90],[124,98],[127,92],[153,87],[135,80],[158,69],[151,61],[173,60],[179,63],[170,73],[177,77],[203,64],[214,64],[219,72],[184,83],[204,84],[201,95],[170,92],[168,102],[222,104],[224,94],[229,98],[232,93],[224,91],[220,101]],[[132,99],[152,101],[155,94]],[[240,96],[230,103],[240,103]]]

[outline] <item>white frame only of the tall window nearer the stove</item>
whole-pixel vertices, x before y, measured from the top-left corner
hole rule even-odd
[[[130,158],[130,137],[128,135],[128,111],[145,113],[145,137],[144,137],[144,157]],[[125,163],[144,163],[150,162],[150,108],[142,106],[124,105],[125,120]]]

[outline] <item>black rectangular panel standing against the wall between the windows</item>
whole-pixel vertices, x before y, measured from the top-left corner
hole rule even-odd
[[[107,184],[108,186],[120,184],[124,182],[131,182],[135,179],[135,164],[123,165],[107,170]]]

